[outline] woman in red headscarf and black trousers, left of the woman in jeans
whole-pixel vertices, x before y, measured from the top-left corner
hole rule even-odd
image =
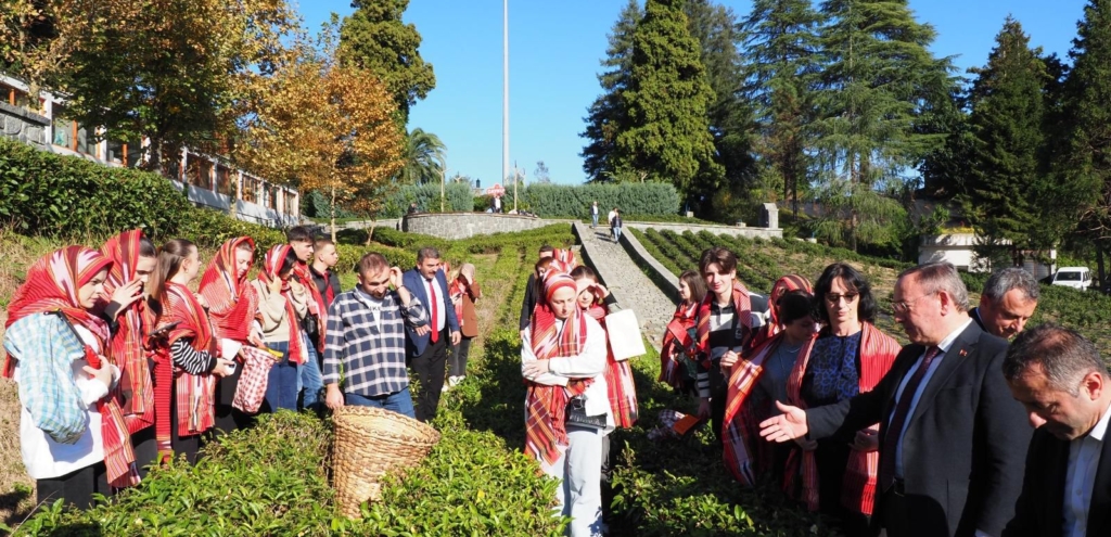
[[[239,379],[250,359],[240,356],[242,349],[264,345],[254,322],[259,298],[247,282],[252,262],[254,241],[250,237],[238,237],[220,246],[201,276],[200,294],[208,302],[214,335],[224,355],[234,357],[238,364],[231,375],[217,384],[216,428],[224,432],[249,427],[254,420],[253,415],[232,405]]]

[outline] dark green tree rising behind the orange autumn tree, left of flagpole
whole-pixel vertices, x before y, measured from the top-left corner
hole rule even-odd
[[[417,50],[420,32],[401,21],[409,0],[353,0],[351,7],[354,12],[340,28],[342,57],[386,82],[398,105],[399,121],[407,125],[409,109],[436,87],[432,64]]]

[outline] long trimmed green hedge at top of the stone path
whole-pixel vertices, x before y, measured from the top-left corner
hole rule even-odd
[[[590,205],[594,200],[598,201],[601,220],[614,207],[629,215],[663,216],[679,212],[679,193],[675,187],[662,182],[529,185],[522,198],[530,211],[543,218],[589,218]]]

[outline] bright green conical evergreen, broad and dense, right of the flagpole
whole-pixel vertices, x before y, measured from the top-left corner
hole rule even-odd
[[[714,100],[687,27],[682,0],[648,0],[633,32],[623,100],[629,128],[618,133],[618,172],[672,182],[684,196],[721,183],[707,113]]]

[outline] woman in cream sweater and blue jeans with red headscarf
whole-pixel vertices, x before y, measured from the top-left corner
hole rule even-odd
[[[309,310],[311,296],[304,286],[290,276],[297,266],[297,253],[289,245],[278,245],[267,251],[259,277],[251,288],[259,297],[259,320],[262,341],[282,357],[267,377],[264,407],[297,411],[298,366],[309,358],[298,319]]]

